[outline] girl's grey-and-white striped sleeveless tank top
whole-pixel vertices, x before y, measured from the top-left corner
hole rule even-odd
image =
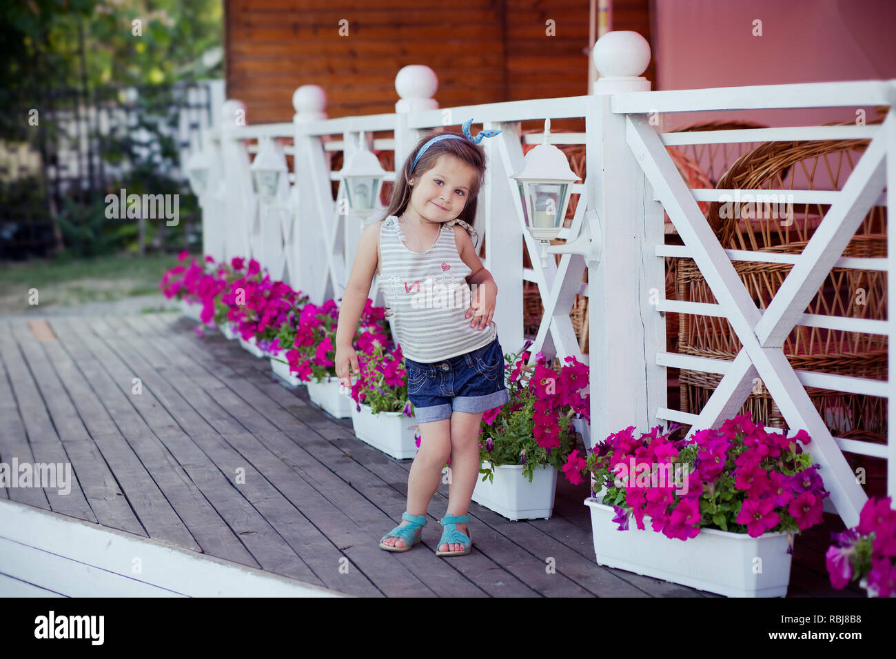
[[[454,242],[452,225],[444,222],[426,252],[405,246],[398,218],[390,215],[380,228],[380,290],[392,310],[401,352],[424,364],[478,350],[497,336],[493,320],[479,330],[470,327],[470,267]],[[465,222],[464,222],[465,224]]]

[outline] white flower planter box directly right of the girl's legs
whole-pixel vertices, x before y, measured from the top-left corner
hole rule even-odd
[[[522,475],[521,464],[502,464],[495,469],[495,481],[482,481],[479,474],[473,500],[508,519],[548,519],[554,511],[557,470],[536,467],[532,482]]]

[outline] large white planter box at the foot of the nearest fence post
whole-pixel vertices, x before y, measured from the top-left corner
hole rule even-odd
[[[585,499],[591,509],[598,565],[728,597],[787,595],[792,558],[787,552],[787,533],[751,538],[746,533],[703,528],[696,537],[681,541],[653,531],[649,516],[644,516],[643,530],[630,516],[628,530],[617,531],[613,507],[599,500]]]

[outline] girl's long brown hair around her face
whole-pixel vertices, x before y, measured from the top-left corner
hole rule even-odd
[[[418,185],[419,179],[429,169],[435,166],[435,160],[445,153],[454,156],[461,162],[465,162],[476,172],[472,184],[470,184],[470,192],[467,193],[467,202],[463,205],[463,210],[458,218],[467,222],[471,227],[473,221],[476,220],[476,205],[479,195],[479,189],[482,187],[482,181],[486,174],[486,152],[475,142],[464,138],[462,140],[439,140],[426,149],[426,152],[420,156],[417,161],[417,167],[411,169],[414,158],[417,157],[423,145],[429,142],[436,135],[449,133],[450,131],[434,132],[421,137],[417,146],[409,153],[408,160],[404,161],[401,171],[396,171],[395,186],[392,188],[392,200],[389,202],[389,208],[381,220],[385,220],[390,215],[401,215],[408,207],[410,201],[411,187],[408,181],[415,179],[414,185]],[[460,133],[457,133],[461,135]],[[461,135],[462,137],[463,135]]]

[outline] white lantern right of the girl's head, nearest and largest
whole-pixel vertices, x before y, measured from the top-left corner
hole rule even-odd
[[[532,238],[541,241],[541,264],[547,266],[547,245],[563,229],[570,187],[580,177],[569,167],[564,152],[548,143],[551,120],[545,120],[544,142],[526,154],[522,171],[514,174],[520,190],[522,214]]]

